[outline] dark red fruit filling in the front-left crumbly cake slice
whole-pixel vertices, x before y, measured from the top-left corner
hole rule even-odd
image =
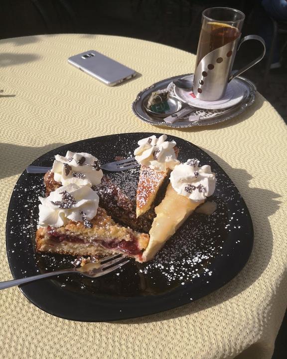
[[[50,239],[53,242],[60,243],[63,241],[67,242],[78,242],[78,243],[84,243],[85,240],[83,238],[79,238],[77,236],[72,236],[69,234],[63,234],[60,232],[57,232],[55,228],[52,228],[48,226],[47,232],[50,235]],[[105,241],[98,241],[103,247],[107,249],[119,249],[122,252],[125,252],[127,254],[132,255],[140,255],[142,254],[143,250],[138,247],[137,238],[132,236],[131,241],[122,240],[120,242],[111,241],[111,242],[105,242]]]

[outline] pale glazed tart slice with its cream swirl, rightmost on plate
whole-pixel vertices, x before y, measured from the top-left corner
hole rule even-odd
[[[143,252],[144,262],[152,259],[195,208],[213,194],[215,174],[211,172],[210,166],[198,165],[198,160],[190,159],[171,172],[165,196],[155,207],[156,217],[149,231],[147,248]]]

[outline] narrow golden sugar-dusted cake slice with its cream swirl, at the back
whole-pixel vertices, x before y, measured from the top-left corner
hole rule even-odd
[[[137,189],[137,217],[150,209],[160,187],[171,170],[179,164],[178,149],[174,141],[165,141],[166,135],[158,139],[153,135],[138,142],[135,158],[141,164]]]

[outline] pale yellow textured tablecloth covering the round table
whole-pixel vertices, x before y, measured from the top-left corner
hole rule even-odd
[[[106,35],[42,35],[0,41],[0,280],[9,198],[19,174],[61,144],[124,132],[165,132],[200,146],[242,193],[254,249],[241,273],[205,298],[117,323],[78,323],[49,315],[17,288],[0,292],[2,358],[271,358],[287,306],[286,147],[282,118],[260,95],[239,117],[172,130],[140,121],[131,104],[161,79],[193,72],[195,56],[143,40]],[[67,63],[95,49],[141,76],[107,87]],[[237,357],[238,356],[238,357]]]

